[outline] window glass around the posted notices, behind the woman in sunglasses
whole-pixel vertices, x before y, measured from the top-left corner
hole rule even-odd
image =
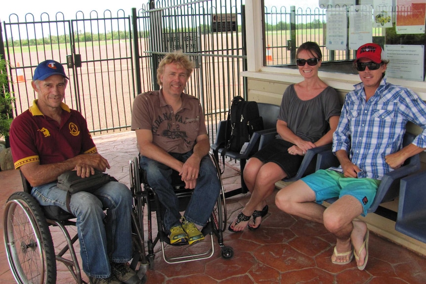
[[[416,1],[420,0],[410,0],[409,2]],[[326,47],[327,9],[324,6],[321,8],[318,5],[315,7],[275,6],[272,3],[276,3],[276,1],[263,0],[264,66],[296,69],[295,56],[297,47],[305,41],[315,41],[320,45],[323,53],[322,71],[357,74],[352,68],[356,50],[349,49],[348,44],[346,44],[344,50],[329,50]],[[363,6],[370,8],[370,5]],[[344,7],[349,17],[350,9],[354,9],[355,6]],[[382,8],[376,8],[376,11],[372,9],[373,42],[380,44],[382,47],[386,44],[424,45],[426,42],[425,33],[401,34],[397,29],[400,28],[404,18],[408,20],[416,17],[420,19],[420,29],[423,23],[424,32],[425,7],[426,3],[421,1],[421,3],[413,3],[410,7],[392,6],[387,8],[389,9],[388,12]],[[329,6],[329,8],[332,7]],[[396,26],[395,21],[397,17],[398,26]],[[347,23],[349,25],[349,18]],[[425,53],[425,48],[423,52]],[[425,80],[425,60],[426,54],[424,54],[422,81]]]

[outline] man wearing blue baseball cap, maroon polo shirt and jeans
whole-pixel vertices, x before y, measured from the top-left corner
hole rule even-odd
[[[85,118],[62,102],[68,80],[59,62],[40,63],[31,82],[38,99],[10,127],[13,162],[33,187],[31,195],[41,205],[66,211],[67,192],[57,187],[60,174],[75,170],[89,177],[95,169],[110,168],[97,153]],[[70,212],[77,217],[83,270],[90,283],[140,283],[126,263],[132,254],[131,204],[130,190],[116,181],[71,196]]]

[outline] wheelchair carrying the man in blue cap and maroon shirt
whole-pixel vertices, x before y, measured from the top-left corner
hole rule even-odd
[[[4,206],[3,240],[10,270],[18,284],[55,284],[56,261],[62,262],[77,284],[87,284],[82,279],[74,250],[78,240],[77,230],[71,238],[66,226],[76,226],[75,216],[58,206],[41,206],[31,196],[31,185],[21,172],[23,192],[13,193]],[[137,226],[134,210],[131,212],[133,258],[130,268],[136,270],[141,283],[146,281],[147,269],[142,233]],[[55,253],[51,231],[59,228],[65,245]],[[66,254],[69,252],[68,254]]]

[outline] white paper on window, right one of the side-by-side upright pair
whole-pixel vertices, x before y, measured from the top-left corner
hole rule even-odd
[[[349,49],[373,42],[373,9],[371,5],[349,7]]]

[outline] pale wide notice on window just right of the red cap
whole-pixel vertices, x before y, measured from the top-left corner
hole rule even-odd
[[[425,45],[385,44],[385,58],[389,60],[386,75],[393,78],[423,81]]]

